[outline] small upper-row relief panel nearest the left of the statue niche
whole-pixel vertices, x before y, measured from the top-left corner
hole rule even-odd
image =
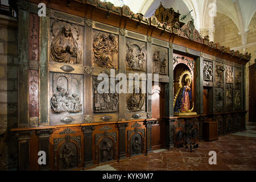
[[[168,49],[152,45],[152,72],[168,75]]]

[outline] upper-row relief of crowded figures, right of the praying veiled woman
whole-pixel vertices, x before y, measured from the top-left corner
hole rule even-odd
[[[118,36],[93,30],[92,37],[93,66],[118,68]]]

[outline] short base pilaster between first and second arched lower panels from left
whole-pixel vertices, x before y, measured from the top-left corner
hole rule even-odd
[[[94,129],[94,126],[82,126],[84,132],[84,168],[93,166],[92,133]]]

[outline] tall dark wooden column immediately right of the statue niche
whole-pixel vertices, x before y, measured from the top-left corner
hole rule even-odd
[[[196,59],[196,112],[203,114],[203,57]]]

